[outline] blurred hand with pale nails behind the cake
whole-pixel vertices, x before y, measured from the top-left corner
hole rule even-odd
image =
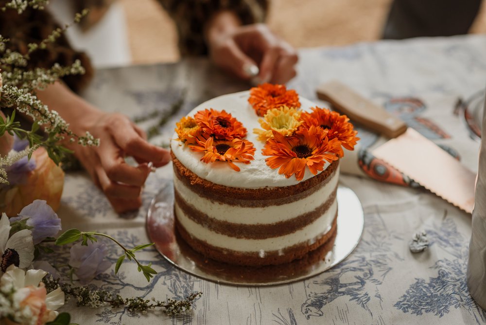
[[[253,83],[284,84],[295,77],[295,49],[264,24],[240,26],[230,12],[208,26],[211,60],[222,69]]]

